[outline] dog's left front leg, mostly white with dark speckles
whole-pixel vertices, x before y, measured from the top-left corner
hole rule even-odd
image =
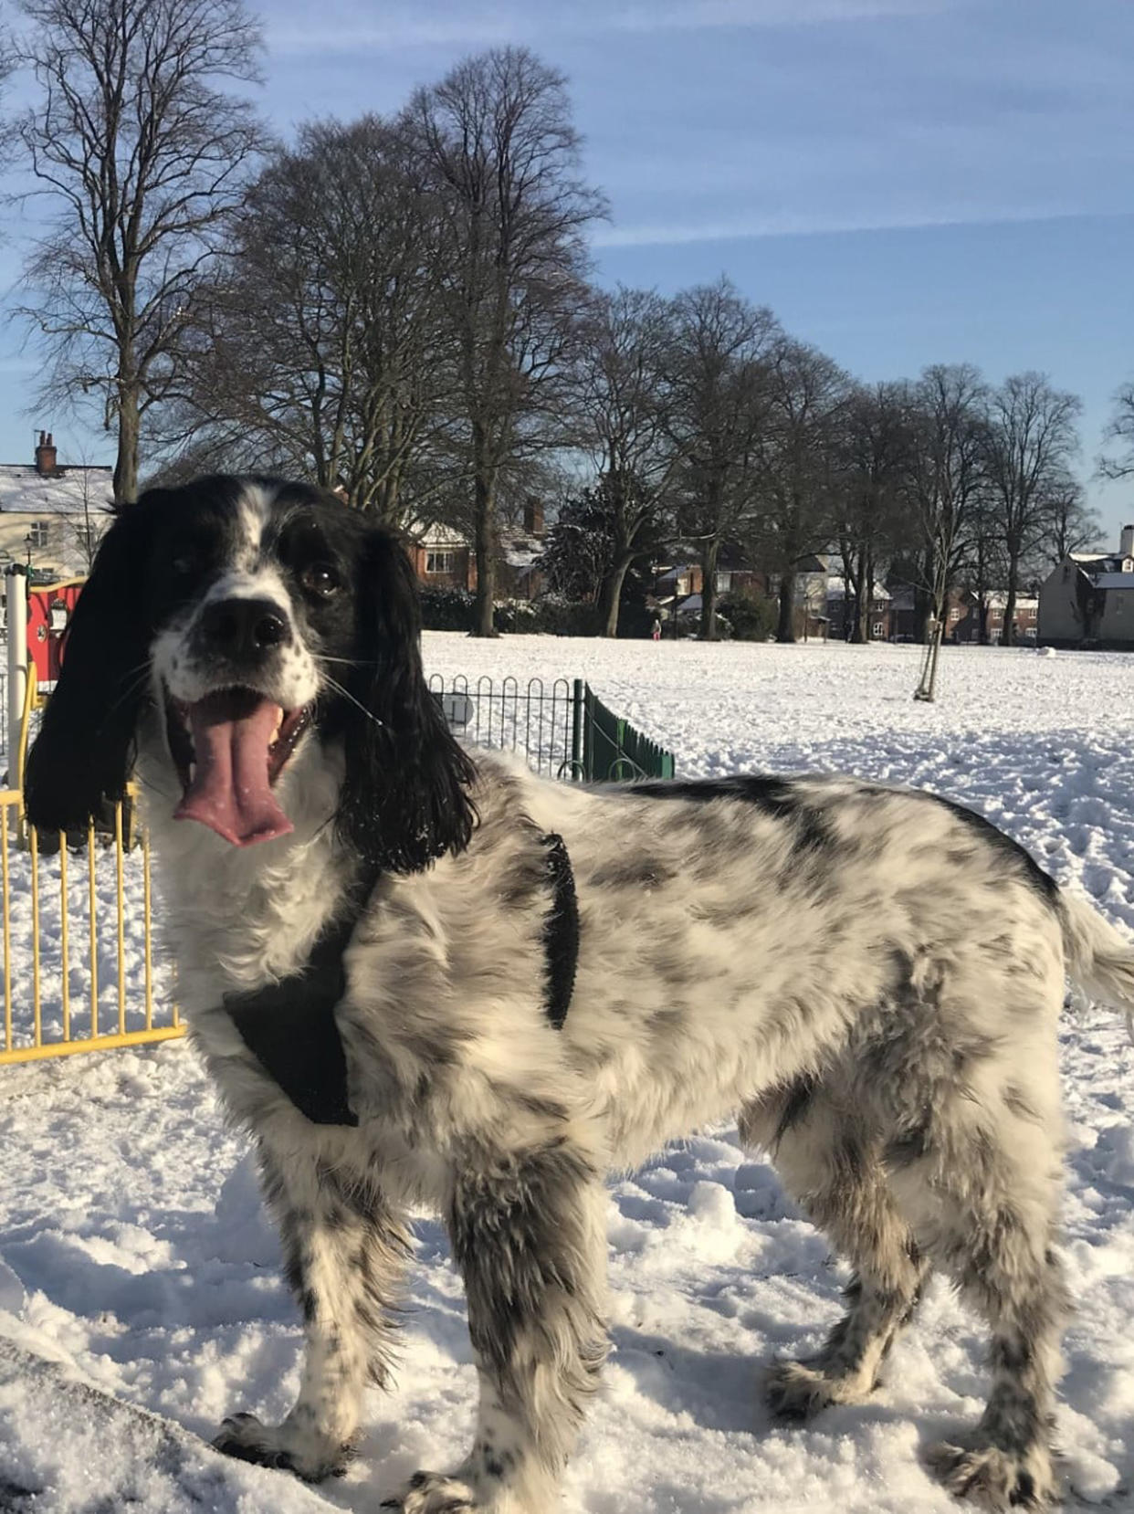
[[[303,1308],[303,1381],[280,1425],[235,1414],[213,1446],[318,1482],[345,1470],[366,1381],[386,1379],[389,1307],[407,1237],[365,1175],[306,1154],[288,1152],[285,1163],[266,1148],[260,1167],[288,1281]]]

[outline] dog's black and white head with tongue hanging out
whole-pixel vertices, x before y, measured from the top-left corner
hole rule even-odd
[[[333,495],[224,475],[154,489],[118,510],[79,597],[29,819],[86,825],[142,742],[179,819],[248,846],[291,831],[282,778],[318,743],[341,752],[336,824],[356,852],[407,872],[460,851],[472,768],[419,630],[397,536]]]

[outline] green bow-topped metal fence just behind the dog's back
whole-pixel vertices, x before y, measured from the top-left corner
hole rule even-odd
[[[522,752],[548,777],[578,783],[674,777],[674,754],[607,709],[581,678],[521,684],[433,674],[430,690],[466,742]]]

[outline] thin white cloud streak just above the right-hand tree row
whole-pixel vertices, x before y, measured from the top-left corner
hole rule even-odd
[[[606,226],[590,236],[590,245],[601,251],[624,247],[690,247],[698,242],[757,241],[774,236],[837,236],[846,232],[917,232],[946,226],[1017,226],[1028,221],[1070,221],[1078,217],[1105,215],[1099,209],[1025,207],[1005,212],[981,212],[958,207],[955,212],[922,215],[896,212],[863,217],[808,217],[784,212],[780,215],[737,218],[733,221],[703,221],[677,224]]]

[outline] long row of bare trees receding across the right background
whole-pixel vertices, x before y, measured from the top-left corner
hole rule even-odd
[[[659,540],[698,556],[707,637],[722,553],[775,577],[789,639],[796,572],[834,548],[866,639],[872,587],[895,565],[919,587],[927,633],[961,580],[983,624],[989,592],[1007,587],[1011,628],[1020,584],[1093,530],[1070,472],[1078,400],[1045,375],[993,388],[969,365],[937,365],[865,386],[727,280],[672,300],[597,297],[580,382],[603,480],[587,519],[606,540],[607,634],[628,566]],[[565,545],[577,551],[577,536]]]

